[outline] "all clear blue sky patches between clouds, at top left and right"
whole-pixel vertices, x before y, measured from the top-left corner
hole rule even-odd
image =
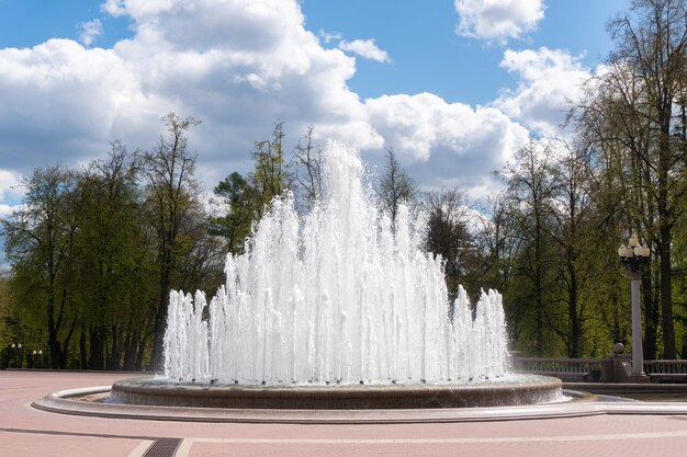
[[[78,39],[79,24],[98,19],[103,35],[95,46],[111,47],[133,36],[128,18],[101,11],[102,0],[0,0],[0,48],[32,47],[49,38]],[[605,22],[629,0],[554,0],[544,20],[516,48],[548,46],[599,62],[611,47]],[[362,98],[428,91],[447,100],[486,104],[516,80],[498,68],[504,45],[486,45],[455,34],[451,1],[304,0],[305,25],[313,32],[372,37],[392,56],[392,65],[360,59],[349,85]]]

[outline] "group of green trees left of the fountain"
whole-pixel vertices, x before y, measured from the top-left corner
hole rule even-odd
[[[149,153],[115,141],[106,160],[25,180],[24,206],[2,221],[12,270],[0,279],[0,342],[43,347],[55,368],[140,369],[169,288],[221,284],[222,245],[207,235],[183,135],[195,121],[164,122]]]

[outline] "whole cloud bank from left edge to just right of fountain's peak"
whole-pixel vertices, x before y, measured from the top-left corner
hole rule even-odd
[[[149,148],[173,111],[203,121],[190,146],[206,188],[248,171],[252,141],[278,121],[293,142],[312,124],[318,139],[342,139],[373,160],[394,147],[425,186],[484,188],[478,176],[527,137],[497,106],[432,94],[361,101],[348,87],[356,59],[324,48],[296,0],[108,0],[102,9],[129,18],[134,35],[106,49],[69,39],[0,49],[0,169],[82,163],[117,138]]]

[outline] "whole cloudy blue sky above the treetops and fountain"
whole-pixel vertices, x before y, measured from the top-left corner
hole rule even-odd
[[[320,144],[371,163],[393,147],[424,188],[483,198],[528,136],[562,135],[630,0],[487,3],[0,0],[0,217],[34,167],[149,148],[169,111],[203,121],[205,188],[284,121],[291,144],[313,124]]]

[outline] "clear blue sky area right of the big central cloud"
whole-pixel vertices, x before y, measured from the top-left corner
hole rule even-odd
[[[624,0],[554,0],[545,2],[544,20],[521,39],[487,44],[455,34],[458,16],[451,1],[316,1],[303,2],[306,25],[349,37],[374,37],[392,56],[392,65],[359,62],[350,85],[361,96],[428,91],[449,101],[486,104],[517,79],[499,69],[507,47],[547,46],[584,55],[595,66],[610,49],[605,23],[629,4]]]

